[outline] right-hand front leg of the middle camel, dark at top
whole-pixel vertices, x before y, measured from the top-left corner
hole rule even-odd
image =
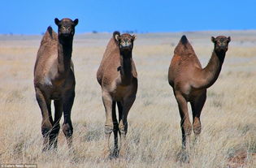
[[[135,101],[135,96],[127,97],[124,99],[123,103],[123,111],[119,121],[119,131],[121,136],[121,146],[119,156],[124,157],[127,151],[127,142],[126,142],[126,134],[128,131],[128,123],[127,123],[127,116],[128,112],[132,107],[133,102]]]

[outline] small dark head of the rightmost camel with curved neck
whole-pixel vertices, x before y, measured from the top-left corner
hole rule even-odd
[[[228,43],[230,41],[230,37],[211,37],[211,41],[215,44],[215,51],[218,53],[225,53],[228,50]]]

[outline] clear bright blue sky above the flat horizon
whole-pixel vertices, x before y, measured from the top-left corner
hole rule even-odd
[[[0,34],[41,34],[54,18],[79,19],[76,33],[256,29],[255,0],[8,0]]]

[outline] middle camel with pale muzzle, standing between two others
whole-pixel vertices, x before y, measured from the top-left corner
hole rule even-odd
[[[127,149],[128,112],[137,94],[137,71],[132,60],[135,35],[114,32],[106,46],[102,62],[97,71],[97,80],[102,88],[102,101],[106,110],[106,144],[103,157],[109,153],[109,140],[114,131],[115,156],[118,154],[118,131],[120,135],[119,157],[124,157]],[[119,110],[119,123],[115,114],[115,104]]]

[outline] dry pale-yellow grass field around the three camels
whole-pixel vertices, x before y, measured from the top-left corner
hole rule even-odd
[[[232,38],[219,79],[208,89],[202,134],[193,143],[189,163],[180,162],[180,115],[167,82],[173,50],[183,34],[203,67],[213,50],[210,37]],[[41,153],[41,111],[33,88],[33,66],[41,36],[0,35],[0,163],[36,163],[47,168],[256,167],[255,34],[137,34],[133,59],[139,88],[128,114],[128,153],[124,159],[109,160],[101,158],[105,111],[96,71],[111,33],[87,33],[74,38],[74,153],[69,153],[62,130],[58,150]],[[190,106],[189,111],[191,114]],[[113,146],[113,137],[111,140]]]

